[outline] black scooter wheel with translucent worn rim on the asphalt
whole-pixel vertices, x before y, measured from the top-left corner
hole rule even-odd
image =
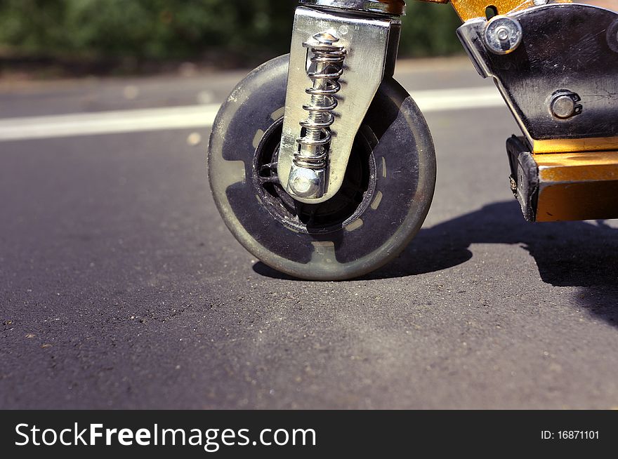
[[[261,65],[223,104],[209,180],[236,239],[301,279],[360,277],[407,246],[429,211],[435,152],[423,115],[394,79],[381,84],[355,139],[341,190],[323,204],[291,199],[277,180],[288,56]]]

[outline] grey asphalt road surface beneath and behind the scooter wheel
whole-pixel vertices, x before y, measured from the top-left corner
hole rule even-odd
[[[213,104],[242,75],[5,83],[0,117]],[[491,86],[461,60],[398,75]],[[423,230],[336,283],[235,241],[207,127],[0,142],[0,408],[617,407],[618,225],[523,221],[506,107],[426,117]]]

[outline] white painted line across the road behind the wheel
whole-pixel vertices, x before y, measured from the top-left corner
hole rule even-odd
[[[412,91],[422,112],[499,107],[495,88],[454,88]],[[210,128],[220,105],[190,105],[117,112],[95,112],[0,119],[0,142],[138,131]]]

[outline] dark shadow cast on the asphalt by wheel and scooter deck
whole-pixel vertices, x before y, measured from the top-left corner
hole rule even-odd
[[[591,295],[584,297],[595,300],[582,300],[590,302],[585,306],[618,325],[618,229],[603,220],[528,223],[515,200],[489,204],[421,230],[393,262],[361,279],[406,277],[461,265],[473,256],[471,244],[521,245],[534,258],[544,282],[586,288]],[[254,271],[293,279],[261,262]]]

